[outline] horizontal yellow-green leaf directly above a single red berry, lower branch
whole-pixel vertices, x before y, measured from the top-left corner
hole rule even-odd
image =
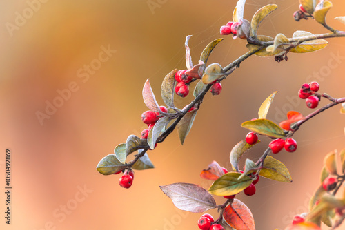
[[[279,125],[266,119],[256,119],[242,123],[242,127],[249,129],[257,134],[270,136],[274,138],[282,138],[285,136],[284,130]]]

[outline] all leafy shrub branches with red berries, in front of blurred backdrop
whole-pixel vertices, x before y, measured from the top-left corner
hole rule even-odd
[[[190,131],[197,111],[201,107],[204,96],[210,92],[219,95],[222,90],[221,81],[232,74],[240,63],[248,57],[253,56],[274,56],[275,61],[288,60],[288,52],[306,53],[320,50],[328,42],[324,39],[345,36],[345,32],[335,30],[326,23],[326,14],[332,7],[331,1],[299,0],[299,10],[293,14],[296,21],[301,19],[314,19],[324,26],[330,33],[311,34],[306,31],[296,31],[291,38],[284,34],[277,34],[275,38],[266,35],[257,35],[260,23],[274,10],[277,5],[270,4],[257,10],[251,22],[244,19],[245,0],[239,0],[233,12],[233,21],[221,26],[222,35],[233,34],[233,39],[245,39],[248,41],[246,47],[248,52],[240,56],[226,67],[219,63],[207,65],[208,57],[213,49],[223,40],[216,39],[209,43],[201,53],[199,62],[193,65],[190,56],[188,41],[191,36],[186,37],[186,70],[172,70],[166,75],[161,85],[161,97],[166,105],[158,105],[155,95],[150,87],[149,80],[144,84],[143,98],[148,111],[141,114],[141,120],[148,125],[147,129],[141,132],[141,136],[130,135],[126,143],[117,145],[114,154],[105,156],[97,165],[97,170],[103,175],[123,173],[119,179],[119,185],[126,189],[132,186],[134,171],[153,168],[148,157],[148,150],[155,149],[175,129],[179,135],[181,144],[184,143]],[[337,17],[337,20],[345,23],[345,17]],[[194,86],[193,86],[194,85]],[[194,87],[193,96],[195,99],[183,109],[175,107],[174,96],[186,97],[190,87]],[[287,113],[287,120],[279,124],[266,118],[270,105],[273,103],[277,92],[274,92],[259,107],[258,118],[242,123],[242,127],[249,129],[245,140],[240,141],[230,152],[230,163],[233,171],[221,167],[213,161],[207,169],[201,171],[201,178],[213,180],[213,184],[204,189],[199,185],[189,183],[175,183],[161,186],[161,190],[174,203],[184,211],[203,213],[209,209],[218,209],[219,217],[213,218],[205,213],[197,221],[199,229],[221,230],[221,229],[255,229],[255,222],[250,209],[244,202],[235,198],[240,192],[247,196],[253,196],[256,192],[256,185],[260,177],[276,180],[279,182],[292,182],[292,178],[284,163],[270,156],[278,154],[283,149],[287,152],[297,150],[297,141],[292,136],[299,130],[299,127],[306,121],[324,112],[335,105],[342,105],[340,112],[345,114],[345,98],[333,98],[326,93],[319,93],[317,82],[305,83],[298,91],[299,98],[306,100],[306,106],[311,109],[319,107],[321,99],[329,103],[319,107],[311,114],[303,116],[299,112],[290,111]],[[239,162],[244,154],[260,143],[259,136],[273,139],[270,141],[266,151],[254,162],[249,158],[245,160],[243,171],[239,170]],[[127,162],[127,156],[137,152],[134,159]],[[339,161],[339,162],[337,162]],[[332,229],[337,229],[345,220],[345,193],[337,196],[345,180],[345,149],[333,151],[327,154],[322,169],[321,184],[311,198],[309,212],[301,213],[293,218],[292,223],[286,230],[317,230],[321,229],[323,222]],[[215,196],[223,196],[226,200],[223,204],[217,205]]]

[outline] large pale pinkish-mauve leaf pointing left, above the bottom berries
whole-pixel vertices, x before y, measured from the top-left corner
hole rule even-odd
[[[175,183],[159,187],[172,200],[174,205],[181,210],[202,213],[217,207],[213,196],[199,185]]]

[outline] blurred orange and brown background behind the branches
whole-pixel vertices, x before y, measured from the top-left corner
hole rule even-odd
[[[293,19],[298,1],[248,0],[245,17],[267,3],[279,9],[262,23],[259,34],[291,36],[295,30],[324,33],[313,20]],[[1,185],[5,187],[5,150],[12,151],[12,224],[1,229],[197,229],[200,214],[179,211],[159,185],[193,182],[207,188],[199,173],[212,160],[230,169],[229,154],[244,139],[243,121],[275,90],[279,94],[268,118],[279,122],[289,110],[311,112],[297,99],[302,83],[318,81],[321,92],[344,96],[344,39],[311,54],[273,58],[252,56],[226,81],[219,96],[206,96],[184,146],[177,133],[149,156],[155,169],[136,171],[130,189],[119,175],[102,176],[96,165],[130,134],[139,135],[147,110],[141,97],[146,79],[159,98],[164,76],[184,69],[184,40],[189,34],[193,60],[220,37],[219,28],[232,20],[236,1],[1,1],[0,2],[0,127]],[[344,15],[344,1],[333,1],[328,22]],[[31,9],[31,10],[30,10]],[[33,9],[33,10],[32,10]],[[25,16],[25,17],[24,17]],[[245,41],[225,37],[211,62],[222,66],[246,52]],[[102,48],[103,47],[103,48]],[[97,62],[102,49],[112,50]],[[116,51],[115,51],[116,50]],[[95,61],[96,60],[96,61]],[[90,63],[101,63],[91,68]],[[72,84],[72,86],[71,86]],[[59,91],[66,92],[59,101]],[[177,99],[179,107],[192,100]],[[60,103],[49,117],[49,103]],[[326,101],[322,101],[324,105]],[[257,229],[284,229],[319,185],[324,156],[345,147],[345,117],[339,107],[303,125],[294,138],[295,153],[277,155],[290,169],[292,184],[262,178],[257,194],[237,196],[253,211]],[[269,140],[261,138],[248,157],[257,160]],[[82,191],[82,192],[81,192]],[[1,213],[5,211],[0,193]],[[218,203],[224,198],[216,198]],[[210,211],[216,215],[216,211]],[[4,215],[4,214],[2,214]]]

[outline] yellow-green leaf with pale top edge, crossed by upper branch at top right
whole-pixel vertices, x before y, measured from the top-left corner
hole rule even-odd
[[[311,36],[313,35],[310,32],[297,30],[293,33],[293,38],[303,38],[304,36]],[[306,52],[314,52],[317,50],[321,50],[328,45],[328,41],[324,39],[317,39],[313,41],[304,41],[297,45],[295,48],[291,48],[289,51],[293,53],[306,53]]]

